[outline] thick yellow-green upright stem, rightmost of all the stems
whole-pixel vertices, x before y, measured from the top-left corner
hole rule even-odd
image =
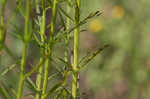
[[[80,0],[76,0],[75,8],[75,24],[80,23]],[[72,79],[72,97],[77,99],[78,83],[78,62],[79,62],[79,26],[74,32],[74,64],[73,64],[73,79]]]

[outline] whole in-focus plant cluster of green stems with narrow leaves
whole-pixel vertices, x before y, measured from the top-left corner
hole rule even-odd
[[[0,50],[4,50],[11,56],[11,51],[5,45],[6,37],[6,22],[5,18],[5,7],[7,0],[1,0],[1,22],[0,22]],[[65,8],[61,6],[65,4]],[[24,9],[25,5],[25,9]],[[80,0],[18,0],[17,1],[17,13],[22,15],[25,19],[24,23],[24,35],[22,37],[23,41],[23,53],[21,61],[19,60],[16,64],[9,66],[2,73],[0,73],[0,80],[9,71],[16,68],[16,65],[20,63],[20,77],[17,91],[13,90],[13,95],[16,99],[22,99],[24,96],[24,86],[25,82],[30,86],[29,88],[34,93],[34,99],[49,99],[53,97],[54,99],[77,99],[80,97],[79,91],[79,72],[91,61],[93,58],[99,54],[105,47],[105,45],[99,48],[93,53],[83,56],[79,59],[79,35],[80,26],[86,24],[89,19],[99,16],[101,13],[96,11],[90,13],[84,19],[80,19]],[[51,9],[52,15],[48,18],[48,10]],[[66,9],[66,10],[65,10]],[[34,17],[34,10],[36,11]],[[72,11],[74,10],[74,11]],[[72,13],[74,12],[74,13]],[[73,15],[73,17],[72,17]],[[46,24],[48,20],[51,20],[50,24]],[[56,20],[60,20],[62,28],[58,30],[56,28]],[[36,27],[36,28],[35,28]],[[9,28],[9,27],[8,27]],[[46,31],[49,30],[49,36],[46,35]],[[72,38],[71,33],[74,33],[74,49],[70,54],[70,39]],[[19,34],[18,34],[19,35]],[[33,66],[33,68],[26,72],[27,66],[27,56],[28,47],[31,41],[34,41],[40,49],[40,59],[39,62]],[[59,41],[63,41],[65,44],[64,58],[60,56],[55,56],[55,44]],[[71,56],[71,57],[70,57]],[[71,58],[71,59],[70,59]],[[73,59],[73,60],[72,60]],[[71,61],[72,60],[72,61]],[[61,68],[55,66],[57,61],[62,62]],[[54,66],[53,62],[56,62]],[[50,75],[52,72],[51,67],[56,68],[56,73]],[[65,66],[65,68],[63,67]],[[32,81],[30,76],[36,74],[36,82]],[[49,88],[48,84],[51,83],[51,78],[61,75],[63,79],[58,81],[54,86]],[[69,86],[68,77],[72,75],[72,86]],[[2,91],[3,96],[8,99],[11,97],[9,92]]]

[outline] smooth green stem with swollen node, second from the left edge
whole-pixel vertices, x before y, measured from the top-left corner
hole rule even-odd
[[[20,81],[18,86],[18,93],[17,99],[21,99],[23,93],[23,86],[25,81],[25,67],[26,67],[26,60],[27,60],[27,48],[28,42],[30,40],[30,32],[29,32],[29,19],[30,19],[30,9],[31,9],[31,0],[27,0],[26,2],[26,15],[25,15],[25,34],[24,34],[24,51],[21,60],[21,72],[20,72]]]

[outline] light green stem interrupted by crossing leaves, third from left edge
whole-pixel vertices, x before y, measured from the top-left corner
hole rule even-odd
[[[40,13],[39,11],[39,0],[37,0],[37,12]],[[44,45],[45,43],[45,29],[46,29],[46,1],[42,0],[42,8],[43,8],[43,15],[42,15],[42,24],[41,24],[41,32],[40,32],[40,36],[41,36],[41,41],[42,44]],[[41,48],[41,58],[40,61],[42,61],[42,59],[44,58],[44,49]],[[36,81],[36,85],[37,85],[37,90],[41,90],[41,84],[42,84],[42,73],[43,73],[43,66],[40,67],[38,75],[37,75],[37,81]],[[36,99],[40,99],[40,93],[37,92],[36,93]]]

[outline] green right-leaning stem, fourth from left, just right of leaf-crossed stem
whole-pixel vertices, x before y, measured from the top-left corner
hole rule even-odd
[[[52,54],[52,48],[53,48],[53,35],[55,33],[55,23],[56,23],[56,14],[57,14],[57,0],[53,1],[53,7],[52,7],[52,21],[51,21],[51,29],[50,29],[50,39],[48,44],[48,50],[46,54],[48,54],[48,58],[46,60],[45,64],[45,71],[44,71],[44,83],[43,83],[43,90],[42,90],[42,99],[45,99],[44,95],[47,91],[47,85],[48,85],[48,74],[50,70],[50,63],[51,63],[51,54]]]

